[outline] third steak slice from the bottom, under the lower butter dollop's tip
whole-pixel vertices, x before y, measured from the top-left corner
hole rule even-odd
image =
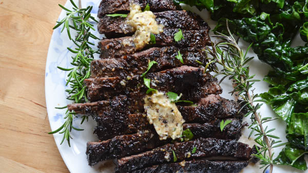
[[[220,130],[220,121],[212,123],[192,123],[183,124],[183,130],[190,129],[194,138],[219,138],[219,139],[238,139],[243,127],[241,121],[232,119],[232,123],[225,126],[223,132]],[[102,134],[103,136],[105,134]],[[152,128],[145,131],[139,131],[132,135],[115,136],[112,139],[102,142],[88,142],[87,156],[90,165],[103,160],[121,158],[131,154],[153,149],[157,146],[170,142],[170,139],[159,140],[159,136]]]

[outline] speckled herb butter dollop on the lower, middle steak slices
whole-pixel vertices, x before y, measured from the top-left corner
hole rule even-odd
[[[144,109],[150,124],[153,124],[160,140],[180,138],[183,132],[183,119],[176,104],[167,95],[156,92],[144,98]]]

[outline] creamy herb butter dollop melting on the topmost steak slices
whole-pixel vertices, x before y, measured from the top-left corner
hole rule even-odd
[[[137,4],[131,4],[129,10],[124,27],[131,27],[135,33],[131,38],[123,40],[122,44],[124,46],[134,45],[137,49],[143,49],[151,40],[151,33],[163,32],[164,26],[157,24],[156,16],[151,11],[142,12]]]

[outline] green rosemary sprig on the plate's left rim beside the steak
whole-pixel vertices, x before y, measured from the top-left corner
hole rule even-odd
[[[89,22],[90,19],[94,20],[95,22],[98,22],[95,20],[93,16],[91,16],[91,10],[92,6],[88,6],[87,8],[81,8],[81,1],[79,1],[79,7],[78,8],[73,0],[70,0],[71,4],[73,5],[72,10],[69,10],[65,8],[64,6],[59,6],[67,11],[66,17],[63,18],[61,21],[57,21],[57,24],[53,29],[56,29],[63,25],[63,28],[61,32],[64,31],[66,28],[68,37],[72,42],[75,44],[77,48],[70,49],[67,48],[70,52],[75,54],[75,56],[72,57],[71,65],[72,68],[66,69],[62,67],[57,67],[60,70],[68,71],[67,80],[66,80],[66,86],[69,85],[70,89],[65,90],[68,93],[68,100],[72,100],[74,103],[83,103],[87,102],[87,93],[86,93],[86,87],[84,86],[84,80],[86,78],[90,77],[90,64],[91,61],[94,59],[94,54],[98,53],[99,50],[93,50],[91,46],[91,42],[89,42],[89,38],[93,39],[99,39],[95,35],[91,33],[91,30],[95,31],[93,28],[93,25]],[[73,25],[70,25],[72,23]],[[76,32],[76,36],[74,39],[71,37],[71,30],[74,30]],[[65,107],[56,107],[57,109],[66,109]],[[61,144],[66,139],[68,145],[70,146],[70,139],[72,139],[70,132],[72,129],[75,129],[76,131],[83,131],[83,129],[76,128],[72,125],[73,119],[75,117],[74,112],[66,111],[66,116],[64,117],[65,122],[64,124],[56,129],[53,132],[50,132],[49,134],[55,134],[60,133],[63,134],[63,138],[61,141]],[[87,116],[82,117],[81,124],[88,120]],[[61,131],[61,132],[60,132]]]

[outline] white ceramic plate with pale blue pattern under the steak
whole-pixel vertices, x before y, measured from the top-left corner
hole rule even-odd
[[[98,7],[101,0],[83,0],[82,1],[82,7],[87,6],[93,6],[92,15],[97,16]],[[78,4],[78,1],[74,1],[76,4]],[[65,5],[66,8],[71,9],[71,4],[68,1]],[[59,8],[59,7],[58,7]],[[190,10],[192,12],[198,13],[200,16],[202,16],[205,21],[208,22],[211,28],[215,27],[215,21],[210,20],[208,13],[204,10],[200,12],[196,8],[190,8],[188,6],[183,6],[184,9]],[[63,10],[59,16],[59,19],[62,19],[65,17],[65,11]],[[59,20],[58,19],[58,20]],[[63,33],[60,33],[62,27],[59,27],[54,30],[51,40],[50,40],[50,46],[48,50],[48,56],[47,56],[47,62],[46,62],[46,74],[45,74],[45,94],[46,94],[46,105],[47,105],[47,112],[49,117],[49,122],[52,131],[59,128],[64,120],[65,111],[64,110],[57,110],[54,107],[62,107],[70,103],[68,100],[66,100],[66,93],[65,93],[65,83],[66,83],[66,72],[61,71],[57,69],[57,66],[69,68],[70,67],[70,60],[72,53],[67,50],[67,47],[74,48],[74,45],[71,41],[69,41],[66,31]],[[94,28],[97,28],[97,25],[95,25]],[[95,35],[99,36],[98,32],[94,33]],[[213,33],[211,33],[213,34]],[[102,37],[102,35],[100,36]],[[93,40],[91,40],[94,42]],[[97,42],[95,42],[95,47],[97,47]],[[295,46],[303,45],[303,41],[301,41],[300,37],[297,36],[294,40],[296,43]],[[247,48],[247,44],[245,42],[240,42],[240,45],[245,50]],[[257,57],[252,51],[249,52],[250,56]],[[98,55],[97,57],[98,58]],[[251,74],[257,74],[256,78],[260,79],[260,82],[257,82],[255,84],[255,92],[256,93],[263,93],[268,91],[268,84],[266,82],[263,82],[263,77],[267,74],[269,67],[267,64],[262,63],[258,60],[258,58],[255,58],[251,64]],[[232,86],[230,85],[230,82],[225,80],[221,87],[223,88],[223,94],[222,97],[233,99],[228,92],[232,91]],[[272,116],[275,117],[275,114],[273,111],[267,106],[263,105],[261,107],[262,115],[266,116]],[[249,122],[248,119],[246,119],[247,122]],[[59,149],[59,152],[70,170],[70,172],[78,173],[78,172],[113,172],[114,165],[111,161],[102,162],[94,167],[91,167],[88,165],[87,162],[87,156],[86,156],[86,143],[88,141],[96,141],[97,139],[92,134],[93,128],[95,126],[95,122],[89,118],[89,122],[85,122],[84,124],[80,125],[81,119],[75,119],[73,122],[73,125],[78,128],[85,129],[84,131],[78,132],[78,131],[72,131],[71,135],[73,139],[71,140],[71,147],[67,145],[66,142],[64,142],[62,145],[60,145],[60,142],[62,140],[61,134],[54,134],[54,140],[55,143]],[[282,120],[277,120],[271,123],[268,123],[269,126],[276,127],[275,135],[280,136],[283,141],[286,141],[285,139],[285,126],[286,124]],[[247,139],[247,135],[249,134],[249,131],[247,129],[243,130],[243,135],[240,139],[240,141],[248,143],[249,145],[253,145],[252,140]],[[280,148],[276,148],[275,153],[276,156],[278,155]],[[243,169],[242,172],[262,172],[261,169],[259,169],[259,165],[248,165],[246,168]],[[274,172],[303,172],[296,169],[293,169],[291,167],[287,166],[275,166]],[[308,172],[308,171],[305,171]]]

